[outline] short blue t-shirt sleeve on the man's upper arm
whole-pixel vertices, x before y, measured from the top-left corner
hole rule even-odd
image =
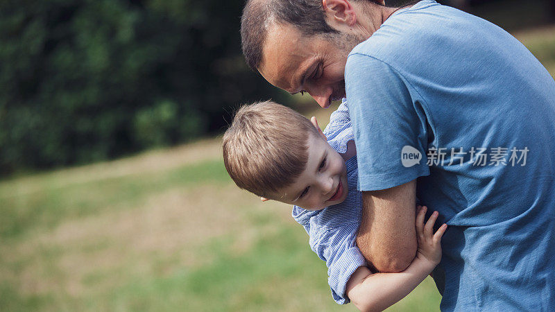
[[[426,114],[407,80],[388,64],[355,53],[345,67],[345,89],[357,144],[358,189],[388,189],[429,175]]]

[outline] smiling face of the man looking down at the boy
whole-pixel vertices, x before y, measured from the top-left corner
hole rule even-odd
[[[347,35],[307,37],[289,24],[274,25],[258,70],[272,85],[291,94],[307,92],[326,108],[345,97],[345,63],[356,44]]]

